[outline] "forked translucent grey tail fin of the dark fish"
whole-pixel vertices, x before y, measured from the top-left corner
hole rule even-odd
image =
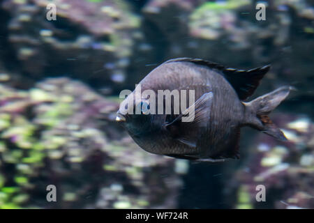
[[[251,102],[244,103],[246,105],[247,124],[276,139],[286,141],[285,134],[271,121],[268,114],[285,100],[293,89],[292,86],[283,86]]]

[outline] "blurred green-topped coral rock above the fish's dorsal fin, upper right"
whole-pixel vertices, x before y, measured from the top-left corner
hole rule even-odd
[[[239,64],[242,54],[251,54],[253,64],[267,63],[278,56],[282,47],[290,44],[294,13],[288,10],[289,7],[294,8],[300,17],[298,26],[309,31],[311,28],[306,24],[313,20],[313,8],[309,8],[305,1],[275,1],[267,6],[266,20],[259,22],[255,19],[257,10],[253,1],[228,0],[208,2],[195,8],[189,17],[190,35],[210,40],[197,40],[200,48],[211,49],[212,52],[207,54],[216,56],[218,49],[227,50],[233,57],[238,55],[239,61],[235,62]],[[268,50],[269,45],[264,43],[271,44],[272,50]]]

